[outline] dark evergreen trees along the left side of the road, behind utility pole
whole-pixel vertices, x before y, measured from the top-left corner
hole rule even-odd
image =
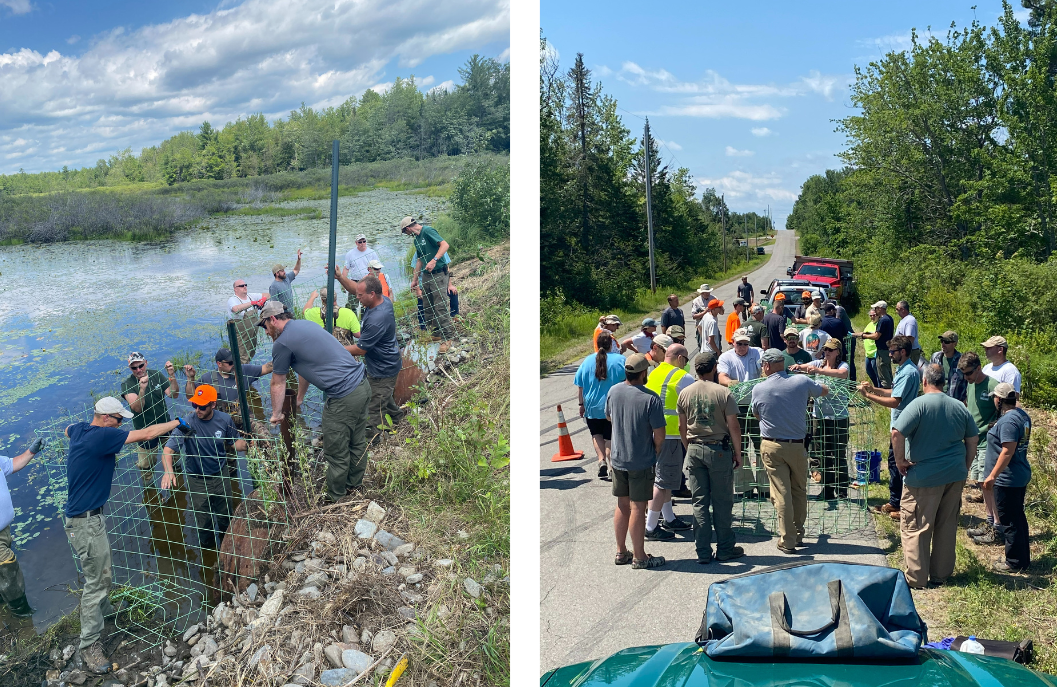
[[[562,72],[545,39],[540,49],[541,296],[625,305],[649,286],[645,140],[624,126],[582,53]],[[721,267],[721,225],[740,229],[742,216],[715,189],[698,199],[689,169],[664,164],[655,140],[650,149],[657,282],[682,285]]]

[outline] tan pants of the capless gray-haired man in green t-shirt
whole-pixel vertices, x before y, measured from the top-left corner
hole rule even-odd
[[[954,572],[958,513],[965,480],[940,486],[903,485],[900,500],[900,538],[907,564],[907,583],[925,587]]]

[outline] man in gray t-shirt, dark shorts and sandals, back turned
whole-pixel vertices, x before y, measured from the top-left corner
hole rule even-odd
[[[664,565],[664,558],[646,553],[646,505],[653,496],[653,465],[664,446],[665,417],[661,397],[646,388],[649,363],[641,353],[624,363],[625,380],[606,396],[606,419],[613,425],[610,468],[616,513],[616,564],[635,570]],[[631,533],[628,551],[627,536]]]

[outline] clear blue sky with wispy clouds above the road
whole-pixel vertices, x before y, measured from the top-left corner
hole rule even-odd
[[[944,39],[952,21],[1001,13],[993,0],[541,0],[540,23],[562,70],[583,53],[637,137],[649,117],[662,162],[689,168],[699,193],[713,187],[738,212],[769,204],[784,228],[804,180],[842,166],[835,120],[855,113],[855,66],[909,49],[912,29]]]

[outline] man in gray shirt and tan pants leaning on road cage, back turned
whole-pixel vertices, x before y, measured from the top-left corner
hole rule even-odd
[[[767,349],[760,356],[763,382],[753,387],[750,406],[760,421],[760,453],[778,512],[778,551],[796,554],[808,520],[808,403],[830,389],[785,372],[785,354]]]

